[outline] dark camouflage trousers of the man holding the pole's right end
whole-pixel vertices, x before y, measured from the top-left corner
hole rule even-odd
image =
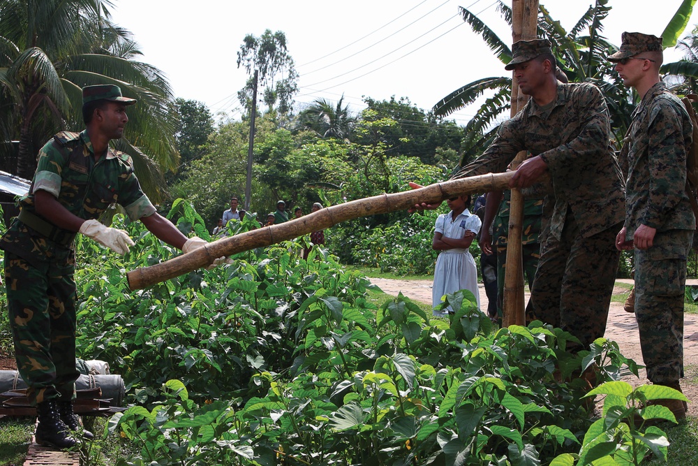
[[[572,333],[581,342],[569,351],[588,349],[604,336],[618,260],[616,233],[623,224],[584,238],[572,212],[567,212],[560,239],[547,235],[531,289],[533,314]]]

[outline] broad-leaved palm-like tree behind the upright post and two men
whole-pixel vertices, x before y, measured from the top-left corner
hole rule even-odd
[[[623,85],[614,66],[606,59],[609,54],[618,50],[616,45],[602,36],[603,20],[611,10],[611,7],[607,6],[608,3],[609,0],[596,0],[595,5],[586,10],[570,31],[566,31],[559,21],[551,17],[547,8],[540,5],[537,36],[547,38],[551,42],[558,68],[565,72],[570,82],[593,82],[601,89],[609,105],[611,130],[614,132],[616,145],[619,146],[625,131],[630,126],[635,99],[632,91]],[[693,3],[695,0],[684,0],[674,18],[669,22],[663,34],[665,46],[670,43],[671,38],[674,38],[675,43],[676,37],[685,28],[685,23],[682,25],[681,20],[690,17]],[[511,26],[511,8],[498,0],[497,10],[505,22]],[[512,59],[512,52],[507,42],[502,41],[487,27],[487,24],[466,8],[461,8],[461,14],[463,20],[473,31],[482,36],[498,59],[503,64],[508,64]],[[511,108],[511,85],[510,76],[482,78],[456,89],[434,105],[433,112],[436,115],[450,115],[473,103],[485,92],[493,92],[493,95],[480,106],[475,117],[466,125],[466,133],[471,136],[466,141],[467,147],[463,153],[461,165],[480,154],[484,147],[489,145],[498,129],[498,122],[508,115]],[[473,134],[475,136],[472,136]]]

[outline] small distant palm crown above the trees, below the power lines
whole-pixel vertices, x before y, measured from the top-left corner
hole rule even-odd
[[[356,117],[348,105],[342,105],[344,96],[336,105],[327,99],[315,99],[299,115],[299,124],[318,133],[322,138],[348,138],[356,124]]]

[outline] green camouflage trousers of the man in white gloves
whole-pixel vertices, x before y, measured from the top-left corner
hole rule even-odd
[[[5,284],[17,370],[32,405],[72,399],[75,380],[75,261],[34,261],[6,252]]]

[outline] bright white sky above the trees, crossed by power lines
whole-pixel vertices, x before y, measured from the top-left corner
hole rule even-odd
[[[507,75],[480,36],[459,15],[475,13],[503,41],[511,30],[494,0],[112,0],[112,20],[133,33],[142,61],[167,75],[177,97],[205,103],[217,119],[240,119],[237,92],[248,76],[237,68],[247,34],[283,31],[299,73],[299,108],[315,99],[350,110],[372,99],[407,97],[429,110],[459,87]],[[511,6],[511,0],[505,0]],[[593,0],[541,0],[571,29]],[[623,31],[659,36],[681,0],[610,0],[603,35],[621,44]],[[698,10],[698,8],[696,8]],[[686,32],[698,23],[692,15]],[[664,52],[664,62],[681,59]],[[450,116],[466,124],[472,105]]]

